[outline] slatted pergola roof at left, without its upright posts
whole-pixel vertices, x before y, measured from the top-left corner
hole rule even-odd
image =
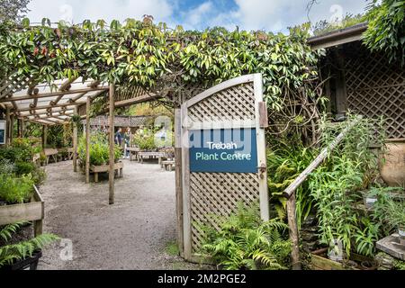
[[[85,116],[87,98],[94,101],[107,94],[109,85],[96,80],[57,80],[52,85],[27,85],[14,87],[4,82],[0,87],[0,104],[11,116],[22,121],[42,125],[57,125],[70,121],[75,113]],[[142,88],[129,89],[114,94],[114,106],[122,107],[134,103],[157,100],[156,94],[148,94]],[[82,108],[82,109],[80,109]],[[77,111],[76,111],[77,109]],[[80,111],[80,112],[78,112]]]

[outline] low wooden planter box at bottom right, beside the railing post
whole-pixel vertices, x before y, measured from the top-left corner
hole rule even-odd
[[[373,259],[356,253],[351,253],[350,260],[345,262],[330,260],[327,254],[328,248],[321,248],[311,252],[313,270],[376,270],[378,268]]]

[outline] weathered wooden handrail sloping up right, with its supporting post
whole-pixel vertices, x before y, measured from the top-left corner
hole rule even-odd
[[[338,144],[345,139],[347,133],[352,130],[356,124],[361,121],[362,116],[356,118],[356,120],[351,121],[345,130],[343,130],[338,137],[330,143],[329,147],[324,148],[318,157],[316,157],[310,166],[308,166],[302,174],[300,174],[292,184],[290,184],[284,190],[284,197],[288,199],[287,201],[287,217],[288,217],[288,225],[290,227],[290,238],[293,243],[293,251],[292,251],[292,262],[293,262],[293,269],[294,270],[301,270],[301,262],[300,262],[300,250],[299,250],[299,234],[298,234],[298,226],[297,220],[295,215],[295,191],[305,182],[311,173],[323,163],[323,161],[330,155],[333,149],[338,147]]]

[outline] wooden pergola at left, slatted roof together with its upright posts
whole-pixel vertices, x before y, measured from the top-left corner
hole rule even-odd
[[[46,143],[47,127],[70,121],[74,115],[85,118],[86,160],[85,179],[90,182],[90,108],[98,97],[108,95],[110,141],[109,202],[114,203],[114,109],[135,103],[155,101],[157,94],[148,94],[135,87],[115,92],[115,85],[82,78],[62,79],[52,85],[33,84],[29,79],[6,79],[0,83],[0,105],[5,109],[6,145],[13,139],[14,121],[18,121],[23,137],[25,121],[43,125],[42,140]],[[73,125],[73,168],[77,171],[77,126]]]

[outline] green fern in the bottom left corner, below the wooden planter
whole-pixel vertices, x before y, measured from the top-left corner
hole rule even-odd
[[[53,234],[41,234],[35,238],[17,243],[11,243],[13,235],[21,229],[26,222],[8,224],[0,229],[0,270],[36,270],[38,261],[42,256],[42,248],[58,240]]]

